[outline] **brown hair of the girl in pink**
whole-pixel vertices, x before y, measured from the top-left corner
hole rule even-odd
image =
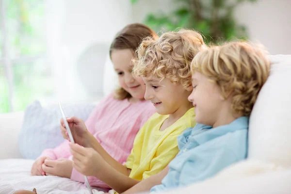
[[[131,49],[134,52],[143,41],[143,39],[148,36],[152,37],[153,39],[158,38],[158,35],[144,24],[134,23],[125,26],[120,32],[116,34],[111,43],[109,50],[110,58],[114,50]],[[119,100],[123,100],[130,98],[131,95],[121,86],[119,86],[114,91],[113,97]]]

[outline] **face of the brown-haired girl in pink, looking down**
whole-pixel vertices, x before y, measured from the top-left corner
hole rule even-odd
[[[144,99],[146,86],[142,78],[132,76],[132,58],[133,52],[130,49],[113,50],[111,53],[111,59],[118,75],[120,86],[133,98]]]

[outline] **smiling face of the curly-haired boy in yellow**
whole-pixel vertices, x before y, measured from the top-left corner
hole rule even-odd
[[[166,115],[175,113],[184,103],[183,99],[189,96],[189,91],[182,85],[175,85],[169,79],[151,76],[143,78],[146,84],[145,99],[150,100],[156,108],[157,113]]]

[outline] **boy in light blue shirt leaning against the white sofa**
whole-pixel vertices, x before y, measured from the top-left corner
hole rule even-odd
[[[248,116],[270,72],[266,52],[247,42],[211,47],[194,57],[191,71],[188,99],[199,124],[178,137],[168,167],[126,193],[185,187],[247,157]]]

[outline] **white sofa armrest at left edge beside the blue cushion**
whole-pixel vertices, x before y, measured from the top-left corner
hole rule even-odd
[[[18,135],[24,112],[0,114],[0,159],[22,158],[19,152]]]

